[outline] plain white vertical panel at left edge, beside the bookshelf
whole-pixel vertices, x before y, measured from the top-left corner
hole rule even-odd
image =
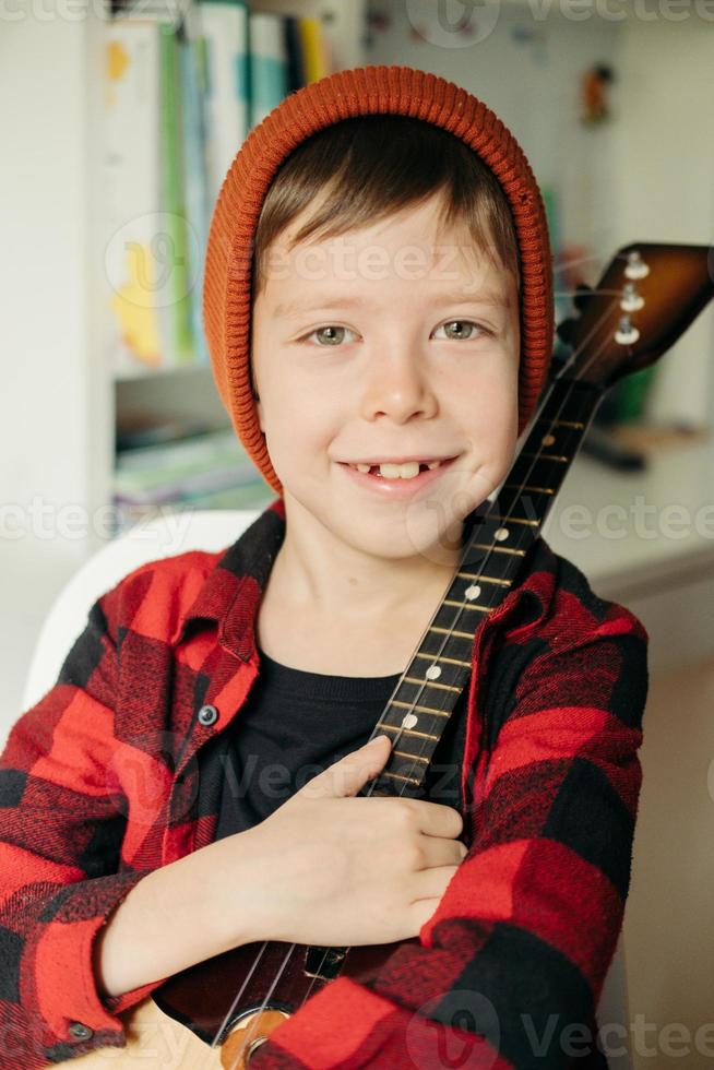
[[[96,25],[51,2],[7,5],[0,33],[0,718],[14,721],[38,622],[81,563],[110,442],[100,192],[88,109],[99,105]],[[41,17],[37,10],[41,11]],[[19,15],[10,17],[8,12]],[[94,92],[93,92],[94,90]],[[90,438],[92,421],[107,429]],[[90,448],[92,441],[93,448]],[[78,537],[79,536],[79,537]]]

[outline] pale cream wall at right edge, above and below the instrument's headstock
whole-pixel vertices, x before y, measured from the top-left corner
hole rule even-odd
[[[623,242],[714,242],[714,23],[631,19],[615,126]],[[714,307],[661,361],[653,418],[714,423]]]

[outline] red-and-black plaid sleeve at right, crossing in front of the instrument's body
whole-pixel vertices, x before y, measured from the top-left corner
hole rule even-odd
[[[531,637],[488,703],[469,851],[418,943],[325,985],[255,1070],[607,1066],[595,1011],[630,883],[647,637],[603,605]]]

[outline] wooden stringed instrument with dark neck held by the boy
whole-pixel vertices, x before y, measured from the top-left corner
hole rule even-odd
[[[580,316],[559,325],[568,356],[498,495],[465,522],[452,582],[372,733],[388,734],[392,752],[359,795],[420,797],[437,744],[468,685],[479,622],[517,581],[604,394],[653,365],[714,296],[712,253],[707,246],[627,246],[595,289],[579,296]],[[245,1070],[313,992],[340,975],[359,982],[402,943],[418,942],[245,944],[169,977],[126,1011],[127,1047],[99,1048],[72,1063],[82,1070]]]

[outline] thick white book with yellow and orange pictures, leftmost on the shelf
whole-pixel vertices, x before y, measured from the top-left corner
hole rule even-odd
[[[116,378],[192,361],[176,27],[121,16],[105,37],[105,206]]]

